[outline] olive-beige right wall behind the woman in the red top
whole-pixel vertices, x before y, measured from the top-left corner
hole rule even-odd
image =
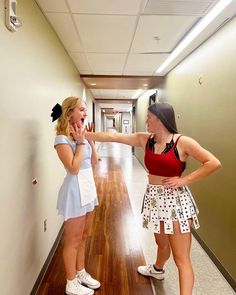
[[[167,76],[166,99],[179,131],[199,141],[223,168],[190,187],[200,209],[201,239],[236,279],[236,18]],[[202,76],[202,84],[198,78]],[[191,161],[188,171],[198,165]]]

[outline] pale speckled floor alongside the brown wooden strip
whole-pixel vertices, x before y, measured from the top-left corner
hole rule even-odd
[[[143,253],[147,264],[153,263],[156,256],[156,245],[150,231],[141,226],[141,204],[143,192],[146,187],[146,171],[139,161],[132,155],[129,146],[118,143],[101,143],[98,146],[101,158],[113,157],[122,166],[124,178],[129,192],[130,203],[138,223],[139,236]],[[192,263],[195,272],[194,295],[233,295],[236,294],[224,279],[213,262],[193,237]],[[177,295],[178,274],[172,257],[166,265],[166,277],[164,281],[151,279],[153,293],[156,295]]]

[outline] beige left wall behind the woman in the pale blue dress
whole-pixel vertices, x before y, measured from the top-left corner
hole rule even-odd
[[[69,95],[86,95],[90,119],[92,114],[90,93],[35,2],[18,1],[18,15],[23,27],[11,33],[0,0],[0,286],[4,295],[30,294],[63,222],[55,209],[64,170],[53,148],[51,109]],[[34,177],[37,185],[31,183]]]

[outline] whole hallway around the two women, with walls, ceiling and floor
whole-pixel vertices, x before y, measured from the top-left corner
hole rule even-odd
[[[10,13],[22,24],[13,30]],[[35,295],[61,238],[56,203],[65,170],[51,111],[69,96],[86,101],[87,122],[97,132],[107,119],[119,131],[143,132],[149,105],[166,101],[178,130],[220,160],[223,169],[191,189],[200,209],[197,233],[236,292],[236,0],[0,0],[0,19],[1,294]],[[180,44],[187,47],[179,52]],[[100,206],[87,258],[102,280],[96,293],[109,295],[113,282],[116,292],[153,293],[150,279],[136,271],[153,263],[156,252],[152,233],[140,224],[142,154],[134,158],[116,144],[100,145],[99,152]],[[62,247],[63,237],[41,294],[64,294]],[[195,240],[192,257],[195,295],[234,294]],[[176,295],[173,260],[165,281],[152,283],[158,294]]]

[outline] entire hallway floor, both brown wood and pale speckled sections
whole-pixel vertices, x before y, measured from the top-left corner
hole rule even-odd
[[[100,205],[95,212],[86,260],[88,270],[101,281],[95,294],[178,295],[178,275],[172,258],[166,265],[164,281],[151,279],[150,284],[136,271],[144,261],[152,263],[156,251],[151,232],[141,227],[144,168],[128,146],[101,143],[98,152],[101,161],[95,177]],[[64,294],[62,245],[63,238],[37,295]],[[194,238],[192,261],[194,295],[235,294]]]

